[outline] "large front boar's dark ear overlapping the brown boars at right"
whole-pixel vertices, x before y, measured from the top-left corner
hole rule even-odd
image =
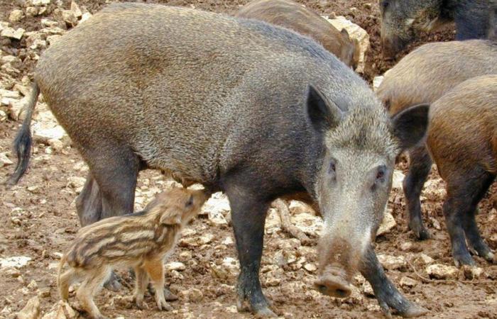
[[[415,146],[425,137],[429,111],[429,104],[418,104],[392,116],[393,134],[402,150]]]

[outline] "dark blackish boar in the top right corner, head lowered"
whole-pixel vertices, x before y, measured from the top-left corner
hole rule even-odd
[[[493,1],[493,0],[490,0]],[[383,56],[394,57],[420,31],[454,21],[456,40],[488,36],[489,0],[381,0]]]

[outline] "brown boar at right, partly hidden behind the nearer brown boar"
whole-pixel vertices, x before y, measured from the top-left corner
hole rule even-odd
[[[427,43],[386,72],[376,94],[393,116],[418,103],[433,103],[461,82],[497,74],[497,44],[489,40]],[[409,228],[420,240],[430,237],[422,223],[420,194],[432,167],[425,144],[409,150],[403,189]]]

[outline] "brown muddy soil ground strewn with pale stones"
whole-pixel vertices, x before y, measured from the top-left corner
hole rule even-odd
[[[0,21],[7,21],[11,10],[23,5],[22,0],[0,1]],[[55,1],[53,1],[55,2]],[[80,0],[78,4],[85,6],[92,13],[98,11],[111,1]],[[160,2],[175,6],[195,6],[197,9],[233,13],[239,6],[246,4],[246,0],[173,0],[149,1]],[[368,74],[366,79],[382,74],[393,65],[385,62],[381,57],[379,42],[379,12],[376,1],[363,0],[312,0],[299,1],[310,9],[322,15],[344,15],[351,21],[365,28],[371,36],[371,51],[368,55]],[[69,8],[70,1],[62,1],[65,9]],[[51,6],[55,6],[52,4]],[[356,8],[356,9],[352,9]],[[40,19],[24,18],[15,27],[22,27],[28,31],[40,28]],[[442,33],[423,35],[420,45],[427,40],[451,40],[454,30],[449,28]],[[9,54],[18,53],[25,48],[23,40],[3,44],[2,50]],[[26,62],[21,69],[22,74],[29,74],[33,69],[33,62]],[[11,142],[20,122],[0,122],[0,152],[9,152]],[[65,147],[62,152],[51,154],[48,147],[37,144],[33,150],[31,166],[18,186],[6,189],[0,186],[0,258],[11,256],[28,256],[32,260],[20,272],[0,271],[0,318],[13,318],[18,310],[26,305],[29,298],[40,296],[42,312],[58,302],[59,296],[55,285],[55,273],[60,258],[60,252],[79,228],[75,213],[74,200],[77,189],[71,185],[69,178],[85,177],[87,172],[82,165],[82,158],[72,147]],[[12,156],[11,156],[12,158]],[[399,168],[405,169],[407,164],[402,162]],[[13,171],[13,165],[0,168],[0,179],[5,179]],[[160,173],[155,171],[142,172],[138,181],[140,190],[160,190],[165,181]],[[389,208],[392,208],[397,225],[390,233],[378,237],[376,251],[378,254],[404,256],[408,261],[406,267],[388,271],[388,276],[396,286],[405,293],[411,301],[419,303],[430,312],[425,318],[497,318],[497,266],[488,264],[480,257],[475,256],[476,263],[484,269],[480,279],[465,279],[463,274],[459,280],[444,281],[429,279],[425,273],[425,265],[418,258],[421,253],[435,259],[437,264],[453,265],[449,236],[444,225],[442,202],[444,188],[436,172],[430,174],[430,192],[425,191],[422,197],[422,208],[426,225],[432,233],[433,239],[424,242],[415,240],[408,232],[405,223],[405,199],[402,191],[392,191]],[[428,187],[427,187],[428,188]],[[495,193],[495,186],[489,194]],[[435,195],[434,195],[435,194]],[[488,195],[479,206],[480,214],[477,220],[482,235],[488,240],[493,250],[497,249],[496,210],[493,208]],[[439,225],[438,225],[439,224]],[[236,276],[224,276],[219,279],[214,275],[213,267],[222,264],[226,257],[236,258],[236,250],[230,241],[233,233],[229,225],[213,226],[207,218],[195,220],[190,225],[190,231],[185,238],[195,238],[200,235],[213,235],[212,241],[203,245],[180,245],[169,261],[178,261],[186,265],[181,272],[166,274],[166,282],[171,291],[178,293],[180,299],[171,305],[175,310],[170,313],[160,313],[155,308],[153,297],[146,296],[148,310],[133,308],[124,296],[132,292],[131,278],[126,272],[120,272],[124,283],[128,283],[118,293],[103,290],[97,297],[97,304],[102,313],[111,318],[123,316],[125,318],[252,318],[249,313],[236,313],[236,294],[234,285]],[[263,269],[272,269],[275,253],[288,247],[289,236],[275,232],[266,235],[263,252]],[[493,240],[491,240],[493,239]],[[405,249],[406,242],[412,243]],[[401,249],[401,247],[404,248]],[[300,257],[305,257],[308,263],[317,264],[315,242],[310,247],[298,247]],[[302,267],[283,267],[281,281],[275,282],[268,277],[268,273],[261,274],[263,289],[266,296],[273,302],[273,309],[285,318],[378,318],[379,311],[375,298],[363,294],[361,283],[360,297],[352,296],[344,300],[321,296],[312,289],[315,272],[307,271]],[[400,279],[409,277],[416,281],[414,287],[400,287]],[[422,277],[422,278],[421,278]],[[34,283],[33,283],[34,281]],[[187,289],[199,289],[202,297],[190,301],[182,292]],[[82,315],[84,318],[84,315]]]

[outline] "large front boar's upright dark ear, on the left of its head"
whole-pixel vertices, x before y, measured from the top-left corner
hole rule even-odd
[[[342,111],[334,103],[327,103],[320,91],[310,85],[307,89],[307,116],[315,130],[324,132],[336,128],[342,121]]]

